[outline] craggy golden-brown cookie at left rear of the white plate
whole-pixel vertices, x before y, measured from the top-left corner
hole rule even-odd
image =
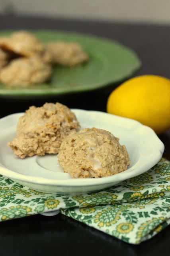
[[[57,154],[63,139],[80,127],[74,113],[60,103],[31,106],[20,117],[16,137],[8,143],[14,154],[25,156]]]

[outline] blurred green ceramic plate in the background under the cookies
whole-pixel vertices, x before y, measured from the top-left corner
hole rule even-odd
[[[0,36],[11,32],[1,31]],[[90,61],[75,68],[55,66],[49,83],[23,88],[0,84],[1,96],[41,96],[94,90],[131,76],[141,66],[135,52],[115,41],[55,30],[32,32],[43,42],[65,40],[80,43]]]

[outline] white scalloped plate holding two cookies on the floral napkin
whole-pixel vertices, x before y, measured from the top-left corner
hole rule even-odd
[[[129,153],[131,165],[119,174],[104,178],[73,179],[64,173],[57,155],[33,156],[20,159],[7,146],[15,136],[16,124],[23,113],[0,119],[0,174],[16,182],[49,193],[80,194],[102,190],[123,180],[135,177],[154,166],[162,157],[164,144],[154,131],[141,123],[104,112],[72,110],[81,128],[96,127],[108,130],[120,138]]]

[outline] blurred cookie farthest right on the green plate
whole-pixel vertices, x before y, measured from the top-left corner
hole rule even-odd
[[[53,63],[61,66],[73,67],[89,59],[89,56],[83,51],[80,44],[74,42],[49,42],[47,50],[53,56]]]

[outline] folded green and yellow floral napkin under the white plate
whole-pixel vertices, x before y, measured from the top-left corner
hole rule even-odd
[[[170,162],[100,192],[77,196],[38,192],[0,175],[0,220],[60,210],[111,236],[139,244],[170,224]]]

